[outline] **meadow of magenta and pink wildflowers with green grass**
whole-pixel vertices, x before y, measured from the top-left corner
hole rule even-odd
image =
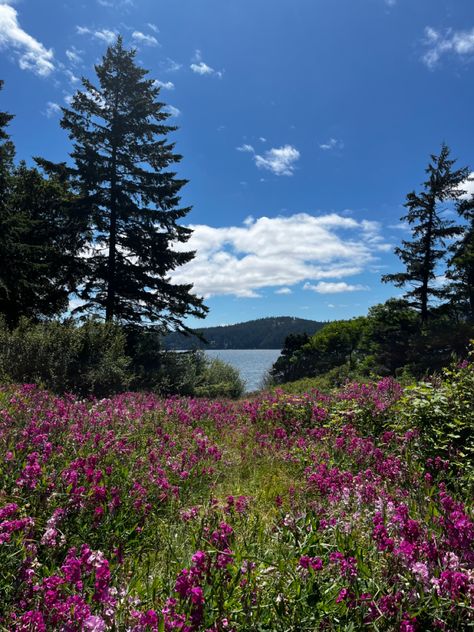
[[[469,496],[407,402],[0,390],[0,630],[474,629]]]

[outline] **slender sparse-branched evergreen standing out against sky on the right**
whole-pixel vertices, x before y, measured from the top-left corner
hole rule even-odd
[[[407,195],[405,207],[408,212],[401,218],[412,227],[413,235],[412,241],[403,241],[402,247],[395,248],[406,270],[382,277],[383,282],[392,282],[397,287],[413,286],[405,296],[420,311],[422,323],[428,320],[430,299],[441,298],[444,294],[433,281],[437,266],[446,254],[446,240],[459,234],[459,228],[442,217],[443,209],[440,208],[444,202],[459,199],[463,193],[459,185],[467,178],[469,170],[454,170],[454,163],[445,144],[438,156],[431,156],[424,190]]]

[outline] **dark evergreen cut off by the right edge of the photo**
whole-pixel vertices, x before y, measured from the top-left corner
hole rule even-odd
[[[460,238],[450,250],[446,276],[452,281],[448,288],[452,304],[461,308],[465,318],[474,323],[474,195],[459,200],[457,211],[464,219]]]

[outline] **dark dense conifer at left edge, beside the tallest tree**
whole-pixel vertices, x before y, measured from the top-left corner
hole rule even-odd
[[[12,118],[0,112],[0,314],[10,327],[22,316],[35,320],[67,308],[84,240],[64,167],[45,177],[14,164],[6,131]]]

